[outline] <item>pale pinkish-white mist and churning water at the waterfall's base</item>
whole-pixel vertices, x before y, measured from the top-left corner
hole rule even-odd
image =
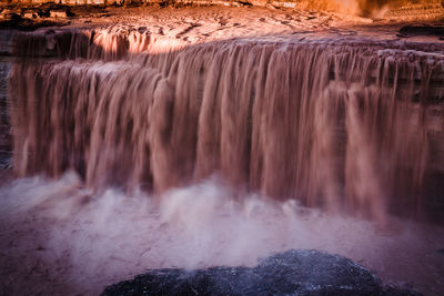
[[[414,272],[436,268],[426,254],[442,243],[442,229],[391,217],[382,231],[295,201],[233,197],[218,177],[158,196],[118,188],[94,194],[72,172],[59,181],[13,181],[0,187],[4,286],[12,294],[27,285],[30,294],[94,295],[147,268],[254,266],[290,248],[345,255],[397,284],[412,276],[420,285],[433,280]]]

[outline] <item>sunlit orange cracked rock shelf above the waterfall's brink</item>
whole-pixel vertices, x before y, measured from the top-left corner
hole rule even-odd
[[[442,23],[444,8],[437,0],[431,1],[422,7],[400,6],[386,10],[384,16],[377,19],[356,17],[345,10],[326,11],[314,9],[266,9],[260,7],[188,7],[174,9],[172,7],[70,7],[73,17],[69,19],[51,17],[50,12],[34,13],[42,17],[33,18],[32,9],[27,6],[6,7],[1,16],[14,13],[22,16],[23,20],[30,22],[28,30],[39,25],[63,25],[65,28],[103,28],[119,27],[128,29],[131,27],[145,27],[151,33],[155,33],[171,40],[184,43],[199,43],[222,39],[263,37],[263,35],[292,35],[302,34],[317,37],[331,34],[333,38],[357,34],[373,35],[376,39],[394,39],[396,31],[405,24],[433,24]],[[54,8],[52,8],[54,7]],[[420,9],[421,8],[421,9]],[[1,10],[0,3],[0,10]],[[57,11],[56,4],[43,4],[41,10]],[[59,8],[67,10],[65,6]],[[28,12],[31,11],[31,12]],[[412,13],[413,18],[412,18]],[[415,14],[416,13],[416,14]],[[48,14],[44,17],[43,14]],[[4,24],[2,30],[14,29]],[[26,23],[18,29],[27,29]],[[437,37],[417,38],[408,40],[430,40],[440,42]]]

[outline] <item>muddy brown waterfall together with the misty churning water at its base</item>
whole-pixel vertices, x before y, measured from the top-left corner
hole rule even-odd
[[[442,44],[128,28],[14,38],[0,294],[314,248],[441,295],[444,229],[412,218],[442,221]]]

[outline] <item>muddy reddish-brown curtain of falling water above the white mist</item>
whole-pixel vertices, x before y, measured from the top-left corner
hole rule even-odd
[[[216,174],[311,206],[421,211],[444,176],[443,52],[353,38],[184,47],[143,29],[23,33],[9,85],[14,170],[154,192]]]

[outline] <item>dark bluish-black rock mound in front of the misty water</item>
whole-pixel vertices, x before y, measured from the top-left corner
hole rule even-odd
[[[317,251],[287,251],[254,268],[153,269],[102,295],[418,295],[384,289],[370,271]]]

